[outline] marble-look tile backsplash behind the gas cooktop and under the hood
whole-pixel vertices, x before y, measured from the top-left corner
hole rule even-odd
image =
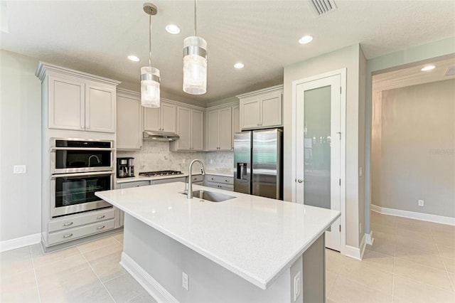
[[[174,170],[188,172],[188,165],[193,159],[203,161],[207,171],[230,174],[234,166],[232,151],[169,151],[168,142],[144,141],[141,150],[117,151],[117,157],[132,156],[134,171],[164,171]],[[198,172],[199,166],[193,165],[193,171]]]

